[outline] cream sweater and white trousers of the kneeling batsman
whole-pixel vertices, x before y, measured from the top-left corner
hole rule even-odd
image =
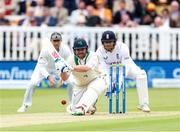
[[[84,107],[85,112],[93,106],[98,96],[107,88],[104,75],[99,71],[98,57],[96,53],[89,52],[83,60],[75,60],[74,55],[68,59],[72,65],[86,65],[91,68],[87,72],[72,71],[70,79],[74,82],[71,109]]]

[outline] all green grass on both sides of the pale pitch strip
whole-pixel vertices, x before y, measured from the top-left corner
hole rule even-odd
[[[10,115],[16,113],[23,99],[23,90],[0,90],[0,114]],[[149,89],[150,107],[152,112],[180,111],[180,89]],[[38,89],[33,97],[33,105],[27,113],[55,113],[65,112],[66,107],[59,102],[67,99],[67,92],[64,89]],[[138,111],[136,106],[137,92],[135,89],[127,90],[127,111]],[[104,95],[100,96],[97,103],[98,112],[107,112],[108,103]],[[0,130],[14,131],[57,131],[57,130],[118,130],[118,131],[180,131],[180,117],[141,117],[132,119],[116,119],[101,121],[83,121],[75,123],[56,123],[46,125],[28,125],[19,127],[0,128]]]

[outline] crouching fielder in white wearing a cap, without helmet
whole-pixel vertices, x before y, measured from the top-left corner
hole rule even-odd
[[[54,50],[56,50],[62,58],[66,59],[70,56],[71,51],[68,46],[62,44],[61,42],[61,34],[57,32],[52,33],[50,44],[53,45]],[[67,67],[65,67],[62,62],[55,63],[49,50],[49,47],[45,47],[41,50],[36,67],[31,76],[31,80],[26,88],[22,106],[17,110],[17,112],[25,112],[27,111],[27,108],[32,105],[32,96],[35,92],[35,87],[44,78],[48,79],[51,87],[55,86],[54,77],[60,77],[64,81],[67,80]]]

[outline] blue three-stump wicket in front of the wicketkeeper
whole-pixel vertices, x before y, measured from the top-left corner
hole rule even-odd
[[[121,71],[122,71],[122,84],[121,86],[119,86],[119,72],[120,72],[120,69],[121,68]],[[115,79],[113,78],[113,71],[115,69],[115,73],[116,73],[116,76],[115,76]],[[110,66],[110,70],[109,70],[109,81],[110,81],[110,84],[109,84],[109,88],[108,88],[108,91],[107,91],[107,96],[109,98],[109,113],[112,114],[114,113],[113,112],[113,96],[112,94],[115,93],[116,95],[116,112],[115,113],[121,113],[119,111],[119,93],[120,93],[120,90],[122,88],[122,113],[125,113],[126,112],[126,81],[125,81],[125,74],[126,74],[126,68],[125,68],[125,65],[123,64],[112,64]],[[115,82],[114,82],[115,81]]]

